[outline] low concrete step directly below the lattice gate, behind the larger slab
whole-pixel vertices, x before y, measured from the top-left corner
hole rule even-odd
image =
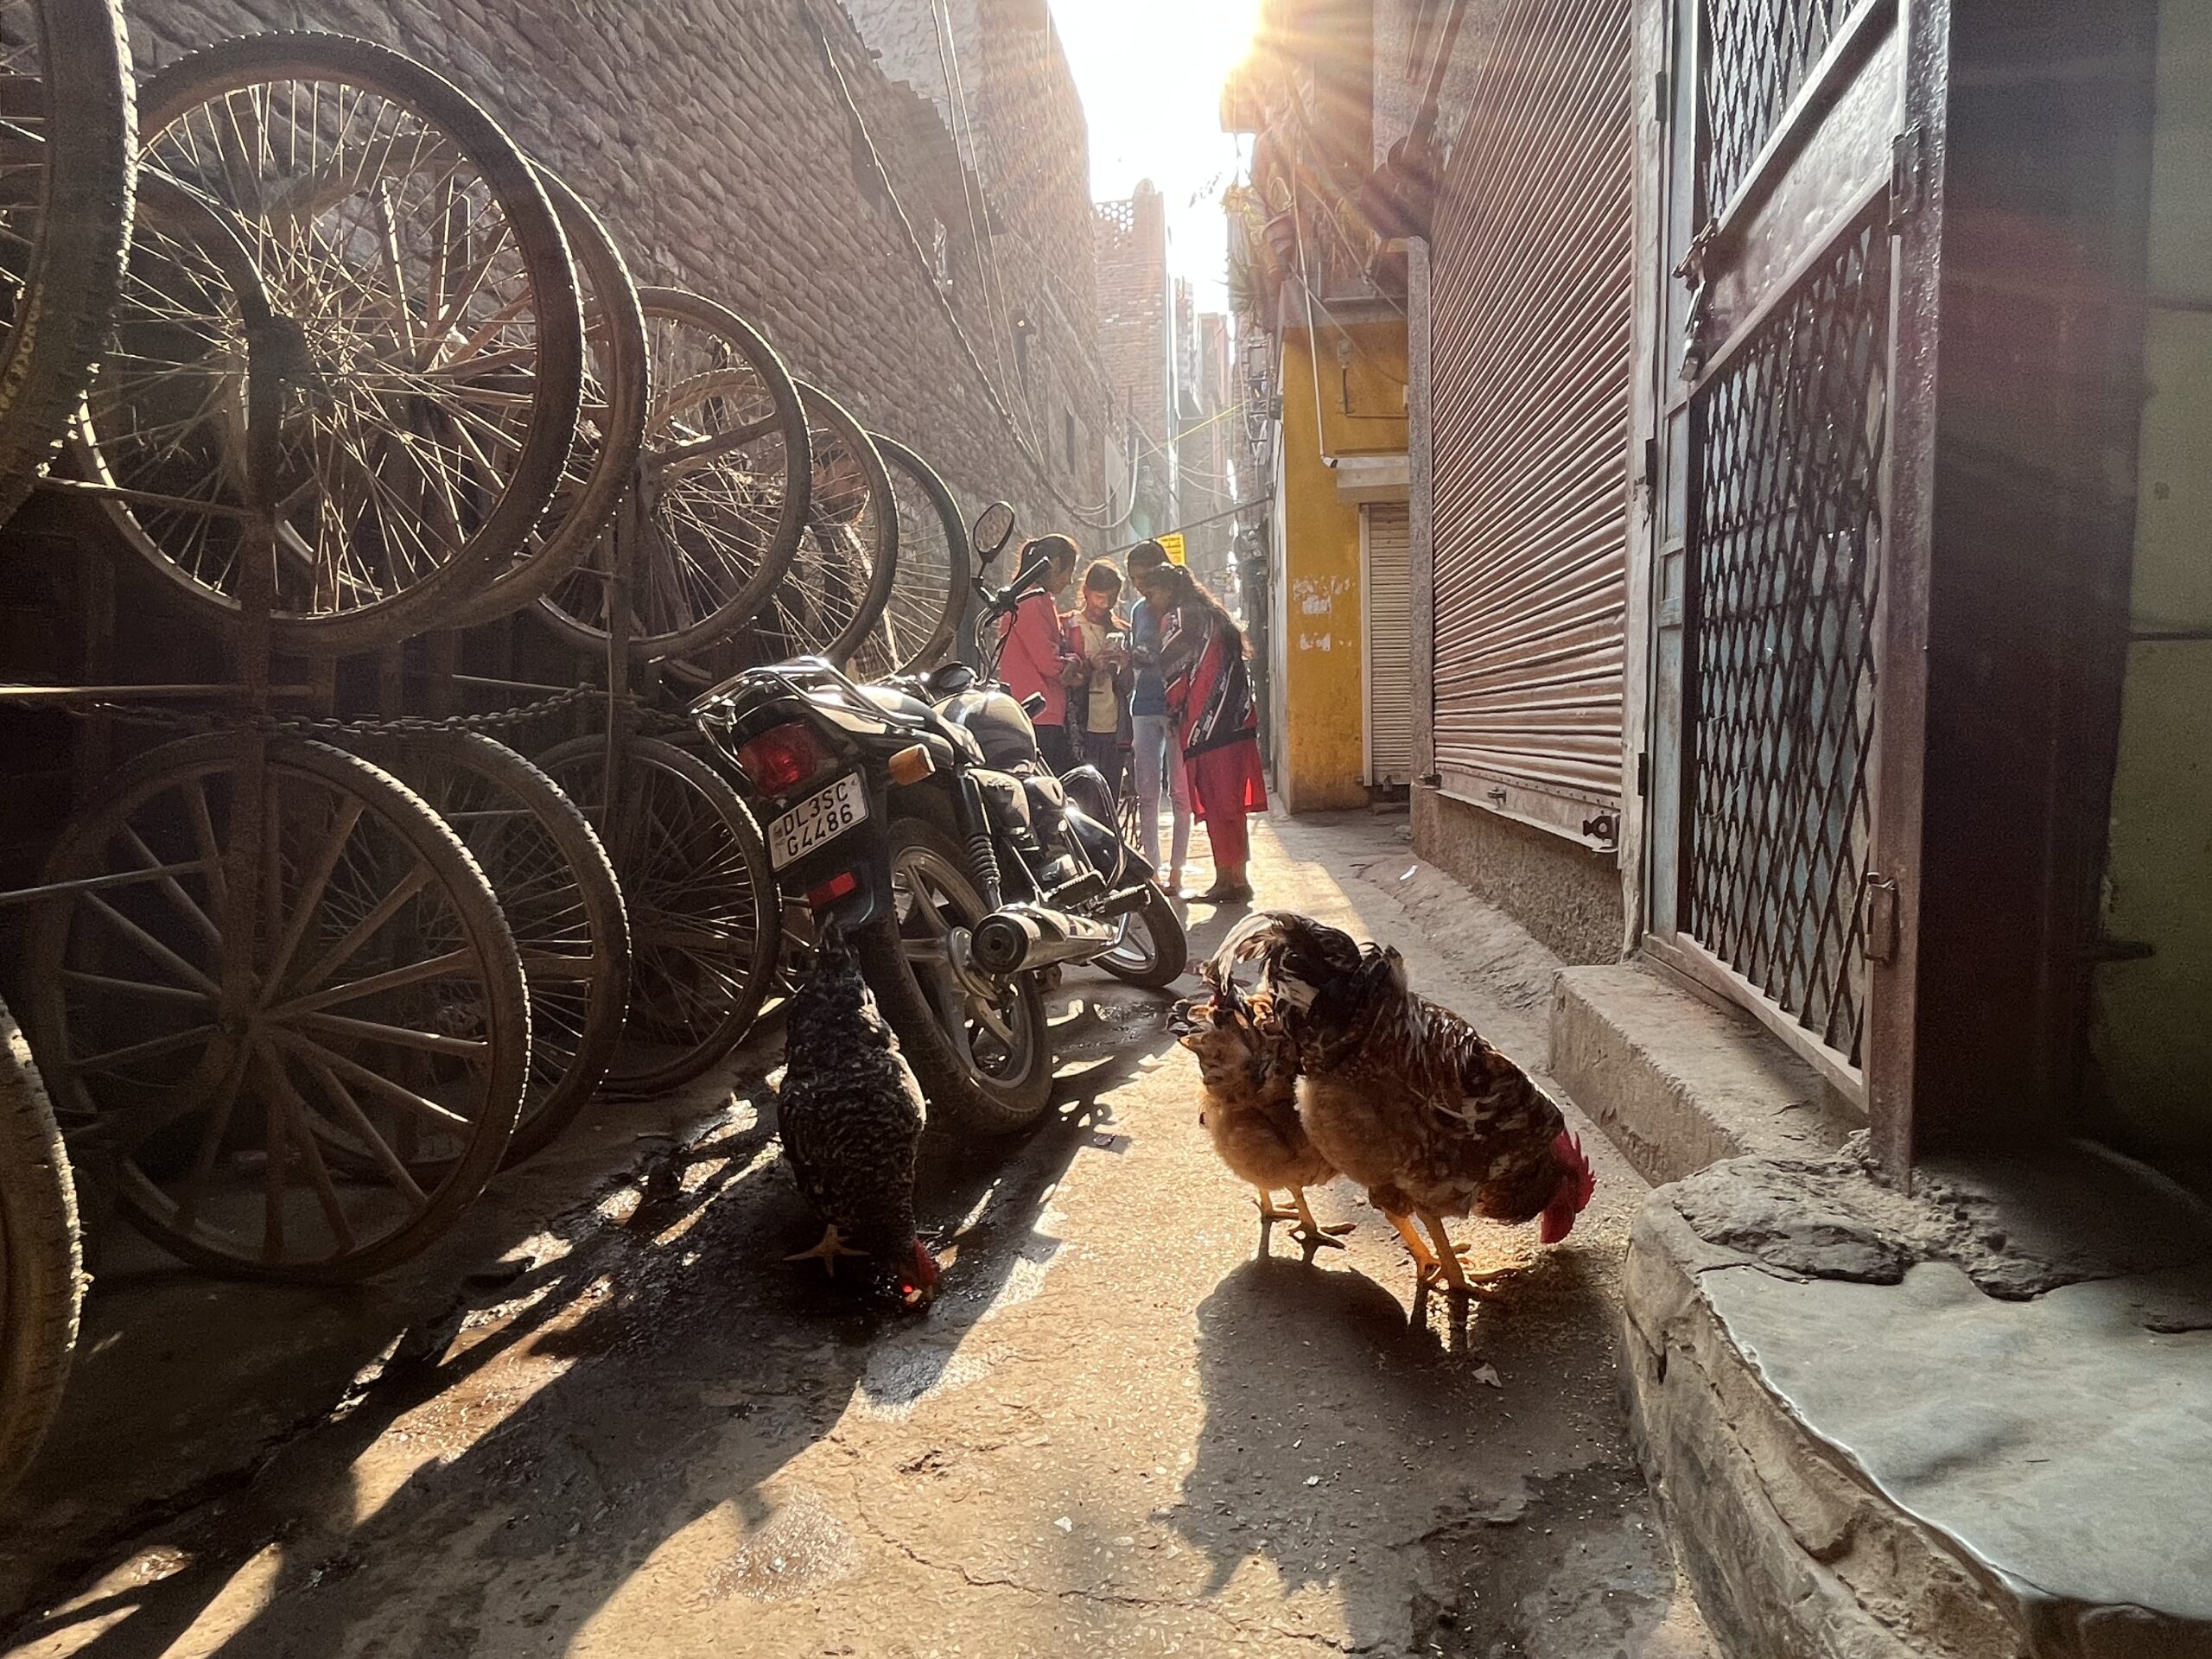
[[[1635,962],[1559,971],[1548,1071],[1655,1186],[1725,1157],[1816,1157],[1863,1126],[1756,1020]]]

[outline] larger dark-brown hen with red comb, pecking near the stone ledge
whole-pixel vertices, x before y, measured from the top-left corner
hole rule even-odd
[[[1241,922],[1212,960],[1261,962],[1272,1015],[1296,1044],[1298,1119],[1314,1150],[1367,1188],[1418,1267],[1418,1290],[1471,1292],[1444,1217],[1517,1225],[1557,1243],[1597,1181],[1542,1088],[1449,1009],[1407,987],[1394,949],[1292,911]],[[1433,1248],[1413,1225],[1429,1228]]]

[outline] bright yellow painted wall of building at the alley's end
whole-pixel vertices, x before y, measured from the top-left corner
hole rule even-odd
[[[1283,571],[1276,580],[1276,759],[1292,812],[1367,805],[1360,509],[1329,456],[1405,453],[1405,325],[1283,334]],[[1349,343],[1349,356],[1343,343]],[[1316,380],[1318,376],[1318,380]],[[1318,411],[1316,411],[1318,389]]]

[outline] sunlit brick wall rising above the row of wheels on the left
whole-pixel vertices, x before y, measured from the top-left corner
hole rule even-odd
[[[794,374],[920,449],[962,502],[1006,495],[1035,529],[1066,522],[1057,493],[1104,495],[1097,465],[1088,478],[1057,465],[1040,476],[969,367],[816,29],[925,254],[931,226],[967,197],[958,159],[920,119],[929,104],[869,62],[834,0],[133,0],[128,15],[142,73],[301,22],[396,46],[460,84],[599,208],[639,281],[695,288],[748,316]],[[949,265],[947,294],[995,378],[967,237],[949,239]]]

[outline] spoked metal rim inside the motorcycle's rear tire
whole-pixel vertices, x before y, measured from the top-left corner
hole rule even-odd
[[[1042,1033],[1018,982],[991,982],[967,962],[969,929],[984,914],[967,876],[929,847],[898,847],[891,898],[898,953],[962,1068],[991,1086],[1026,1077],[1042,1053]]]

